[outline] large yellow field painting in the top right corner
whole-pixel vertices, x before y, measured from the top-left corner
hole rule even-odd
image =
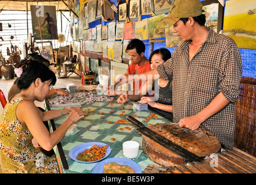
[[[234,39],[239,48],[256,49],[256,2],[226,1],[223,34]]]

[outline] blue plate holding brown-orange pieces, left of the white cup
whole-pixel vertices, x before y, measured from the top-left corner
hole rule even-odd
[[[98,145],[98,146],[100,147],[100,146],[105,146],[106,144],[100,143],[100,142],[82,143],[82,144],[80,144],[80,145],[77,145],[77,146],[73,147],[73,148],[69,151],[68,156],[69,156],[71,159],[73,159],[74,161],[83,162],[83,163],[98,162],[98,161],[100,161],[100,160],[103,160],[103,159],[106,158],[107,156],[109,156],[109,154],[110,154],[110,152],[111,152],[111,149],[110,149],[110,147],[107,147],[105,156],[102,157],[100,160],[97,160],[97,161],[80,161],[80,160],[77,159],[77,156],[78,156],[79,153],[82,153],[84,150],[90,149],[93,145]]]

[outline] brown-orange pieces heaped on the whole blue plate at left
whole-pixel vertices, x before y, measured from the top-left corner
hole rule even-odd
[[[86,149],[82,151],[82,153],[79,153],[77,156],[77,160],[88,162],[100,160],[102,157],[105,156],[107,147],[109,146],[93,145],[90,149]]]

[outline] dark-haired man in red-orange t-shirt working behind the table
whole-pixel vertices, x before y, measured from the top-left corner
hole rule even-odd
[[[132,39],[130,40],[130,42],[127,45],[127,48],[125,50],[125,52],[127,52],[130,56],[130,61],[131,64],[129,64],[127,72],[125,73],[125,75],[135,75],[138,73],[143,73],[146,71],[149,71],[150,68],[150,62],[149,60],[144,56],[145,54],[145,45],[142,42],[142,40],[139,39]],[[116,86],[121,85],[120,82],[116,82],[114,84],[114,88],[109,88],[108,91],[108,95],[109,96],[113,96],[113,95],[117,95],[116,91],[113,91]],[[142,82],[139,83],[139,86],[136,86],[136,84],[134,83],[134,90],[138,91],[140,86],[142,86]]]

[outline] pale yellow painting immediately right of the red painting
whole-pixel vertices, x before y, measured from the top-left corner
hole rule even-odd
[[[148,18],[142,21],[135,22],[135,38],[140,40],[147,40],[147,21]]]

